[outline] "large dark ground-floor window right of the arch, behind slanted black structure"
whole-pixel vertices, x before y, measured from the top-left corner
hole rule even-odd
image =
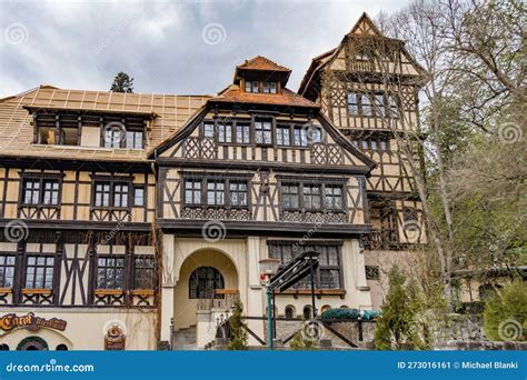
[[[280,260],[280,266],[288,264],[298,254],[307,251],[319,253],[319,267],[315,270],[315,287],[317,289],[340,289],[340,244],[320,242],[299,246],[289,241],[268,241],[269,257]],[[310,289],[311,278],[308,274],[297,284],[296,289]]]

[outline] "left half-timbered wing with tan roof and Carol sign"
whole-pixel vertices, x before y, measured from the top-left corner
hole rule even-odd
[[[0,101],[2,349],[155,349],[147,149],[201,97],[61,90]]]

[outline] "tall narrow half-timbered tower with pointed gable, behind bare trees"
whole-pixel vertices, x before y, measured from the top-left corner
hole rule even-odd
[[[410,263],[412,246],[426,241],[415,184],[422,168],[418,91],[426,81],[404,41],[385,37],[364,13],[337,48],[312,59],[298,91],[378,164],[367,178],[372,232],[365,241],[376,308],[389,268]]]

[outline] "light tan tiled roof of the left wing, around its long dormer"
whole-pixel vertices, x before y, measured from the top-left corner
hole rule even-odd
[[[142,160],[146,151],[179,129],[209,96],[62,90],[42,86],[0,99],[0,156]],[[150,113],[155,116],[145,150],[32,144],[32,118],[24,107],[61,110]]]

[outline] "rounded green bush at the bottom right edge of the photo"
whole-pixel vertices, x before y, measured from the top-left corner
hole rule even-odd
[[[485,303],[485,334],[495,341],[527,340],[527,282],[515,281]]]

